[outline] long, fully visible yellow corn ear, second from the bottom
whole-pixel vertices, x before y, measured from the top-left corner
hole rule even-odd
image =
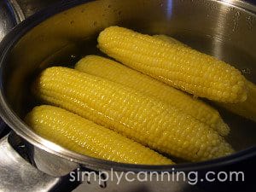
[[[35,82],[34,91],[44,102],[185,160],[209,160],[233,152],[216,131],[177,108],[74,69],[46,69]]]

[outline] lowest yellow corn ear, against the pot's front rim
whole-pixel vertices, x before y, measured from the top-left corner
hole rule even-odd
[[[40,136],[79,154],[131,164],[173,164],[150,148],[62,108],[33,108],[26,123]]]

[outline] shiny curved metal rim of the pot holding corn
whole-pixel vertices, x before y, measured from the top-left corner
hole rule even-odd
[[[235,6],[239,9],[244,9],[253,15],[256,14],[256,6],[241,2],[240,0],[211,0],[212,2],[224,3],[230,6]],[[0,44],[0,79],[3,77],[3,63],[7,60],[9,55],[9,51],[15,46],[15,44],[26,34],[29,32],[34,26],[37,26],[44,20],[47,20],[50,16],[56,15],[61,11],[71,9],[75,6],[78,6],[82,3],[90,3],[93,0],[67,0],[65,2],[55,3],[53,6],[50,6],[48,9],[44,9],[38,12],[35,15],[28,17],[26,20],[22,21],[18,26],[9,32],[9,34],[3,38],[3,41]],[[217,166],[227,166],[230,164],[234,164],[237,161],[247,160],[247,158],[256,156],[256,146],[252,148],[247,148],[237,152],[235,154],[231,154],[229,156],[221,157],[214,160],[207,160],[197,163],[183,163],[171,166],[145,166],[145,165],[131,165],[125,163],[113,162],[110,160],[100,160],[96,158],[92,158],[90,156],[77,154],[73,151],[70,151],[66,148],[62,148],[61,146],[49,142],[47,139],[38,136],[35,132],[33,132],[23,121],[15,114],[15,112],[9,107],[9,104],[3,95],[3,84],[1,82],[1,91],[0,91],[0,114],[2,119],[15,131],[17,135],[24,138],[28,143],[36,146],[37,148],[43,149],[44,151],[55,154],[63,159],[70,160],[74,163],[78,163],[81,166],[90,166],[97,170],[110,170],[114,171],[132,171],[132,172],[186,172],[186,171],[199,171],[204,169],[213,169]]]

